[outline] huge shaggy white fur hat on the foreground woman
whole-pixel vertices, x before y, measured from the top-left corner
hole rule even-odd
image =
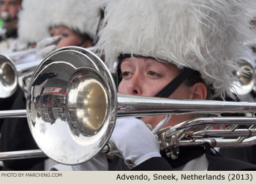
[[[143,55],[200,72],[214,96],[233,97],[233,71],[250,39],[255,0],[107,0],[97,47],[113,68],[120,54]]]

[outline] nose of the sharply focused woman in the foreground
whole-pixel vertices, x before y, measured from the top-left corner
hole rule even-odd
[[[142,78],[140,74],[134,74],[127,85],[128,93],[131,95],[142,95]]]

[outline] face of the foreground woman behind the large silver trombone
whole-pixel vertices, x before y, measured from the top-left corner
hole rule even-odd
[[[138,96],[154,96],[178,74],[176,66],[165,64],[151,58],[125,58],[121,63],[122,80],[118,93]],[[193,99],[192,87],[181,83],[169,98]],[[144,123],[156,126],[164,116],[143,117]],[[167,126],[173,126],[190,118],[190,115],[173,115]]]

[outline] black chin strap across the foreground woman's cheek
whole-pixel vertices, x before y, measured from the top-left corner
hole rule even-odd
[[[184,80],[187,79],[192,73],[194,72],[193,69],[189,68],[184,68],[181,70],[181,73],[178,74],[170,83],[165,85],[165,88],[162,88],[161,91],[159,91],[155,96],[156,97],[162,97],[162,98],[167,98],[169,97],[176,89],[178,86],[181,85],[181,83],[184,82]]]

